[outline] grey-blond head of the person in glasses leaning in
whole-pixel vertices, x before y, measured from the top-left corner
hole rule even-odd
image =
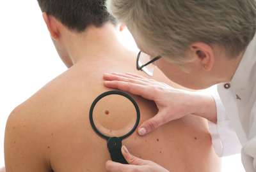
[[[107,4],[127,25],[141,50],[188,66],[195,77],[189,78],[174,66],[168,73],[185,86],[196,87],[196,78],[202,76],[204,82],[209,73],[218,73],[212,69],[221,64],[218,60],[222,57],[227,61],[239,57],[256,31],[255,0],[108,0]],[[211,83],[198,82],[204,86]]]

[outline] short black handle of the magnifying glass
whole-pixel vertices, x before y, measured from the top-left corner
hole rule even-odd
[[[122,155],[122,140],[120,138],[109,138],[108,140],[108,150],[111,155],[111,159],[114,162],[119,162],[121,164],[128,164]]]

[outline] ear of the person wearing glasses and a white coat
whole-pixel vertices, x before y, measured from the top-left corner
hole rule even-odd
[[[206,43],[198,42],[190,45],[190,50],[193,57],[196,57],[196,59],[200,61],[202,68],[204,68],[205,71],[211,71],[215,61],[213,48]]]

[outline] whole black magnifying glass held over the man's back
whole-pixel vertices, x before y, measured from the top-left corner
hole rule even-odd
[[[140,123],[140,109],[129,94],[111,90],[100,94],[90,108],[93,130],[108,142],[112,161],[128,164],[122,155],[122,140],[131,136]]]

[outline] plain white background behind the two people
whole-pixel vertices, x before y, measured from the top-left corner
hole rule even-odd
[[[134,49],[129,32],[125,45]],[[36,0],[0,1],[0,167],[4,126],[13,108],[65,68],[58,58]],[[198,164],[200,165],[200,164]],[[223,171],[243,172],[239,155],[223,158]]]

